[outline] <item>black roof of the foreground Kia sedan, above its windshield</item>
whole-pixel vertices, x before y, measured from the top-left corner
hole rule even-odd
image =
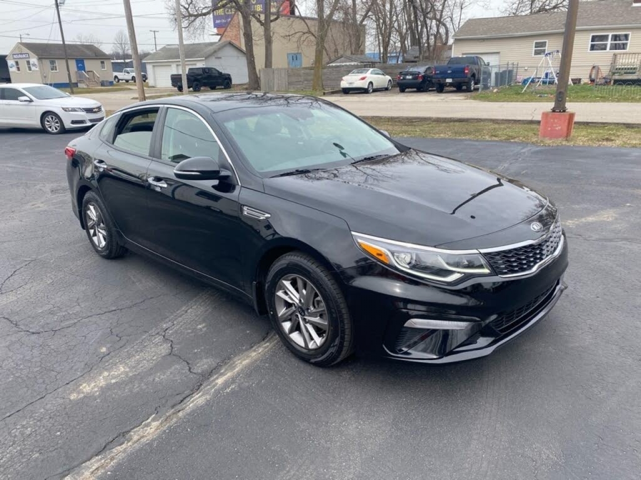
[[[138,106],[153,105],[177,105],[191,106],[199,104],[210,109],[213,112],[233,110],[237,108],[256,108],[261,106],[283,106],[290,105],[292,102],[298,104],[311,104],[313,102],[323,102],[326,100],[318,99],[308,95],[291,95],[288,93],[267,93],[267,92],[221,92],[221,93],[197,93],[196,95],[183,95],[180,97],[167,97],[158,100],[148,100],[129,105],[122,110]]]

